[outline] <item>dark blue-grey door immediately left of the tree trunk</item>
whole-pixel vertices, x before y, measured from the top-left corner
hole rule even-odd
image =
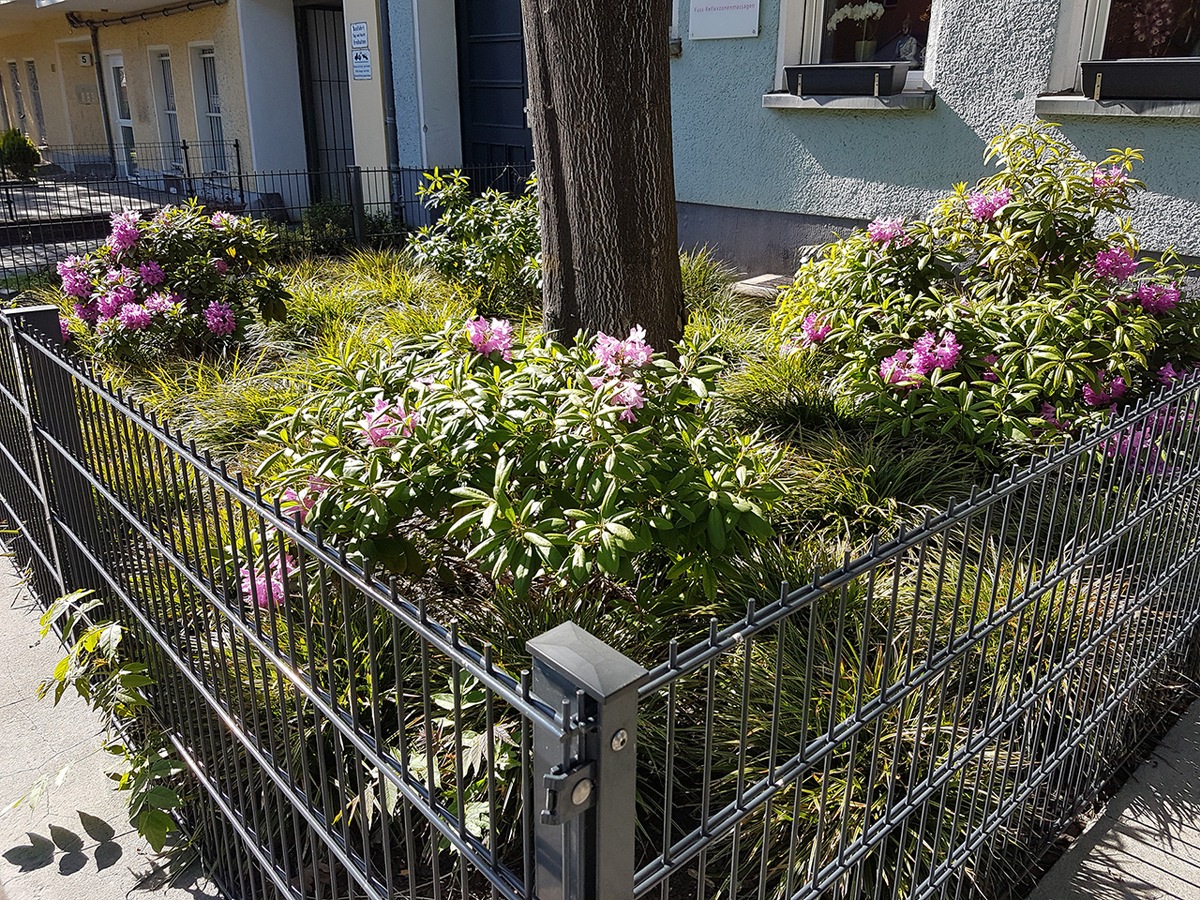
[[[524,114],[528,82],[521,0],[457,2],[463,164],[474,175],[472,181],[485,187],[500,167],[527,172],[533,164],[533,133]],[[517,185],[497,187],[523,181],[520,175],[508,179]]]

